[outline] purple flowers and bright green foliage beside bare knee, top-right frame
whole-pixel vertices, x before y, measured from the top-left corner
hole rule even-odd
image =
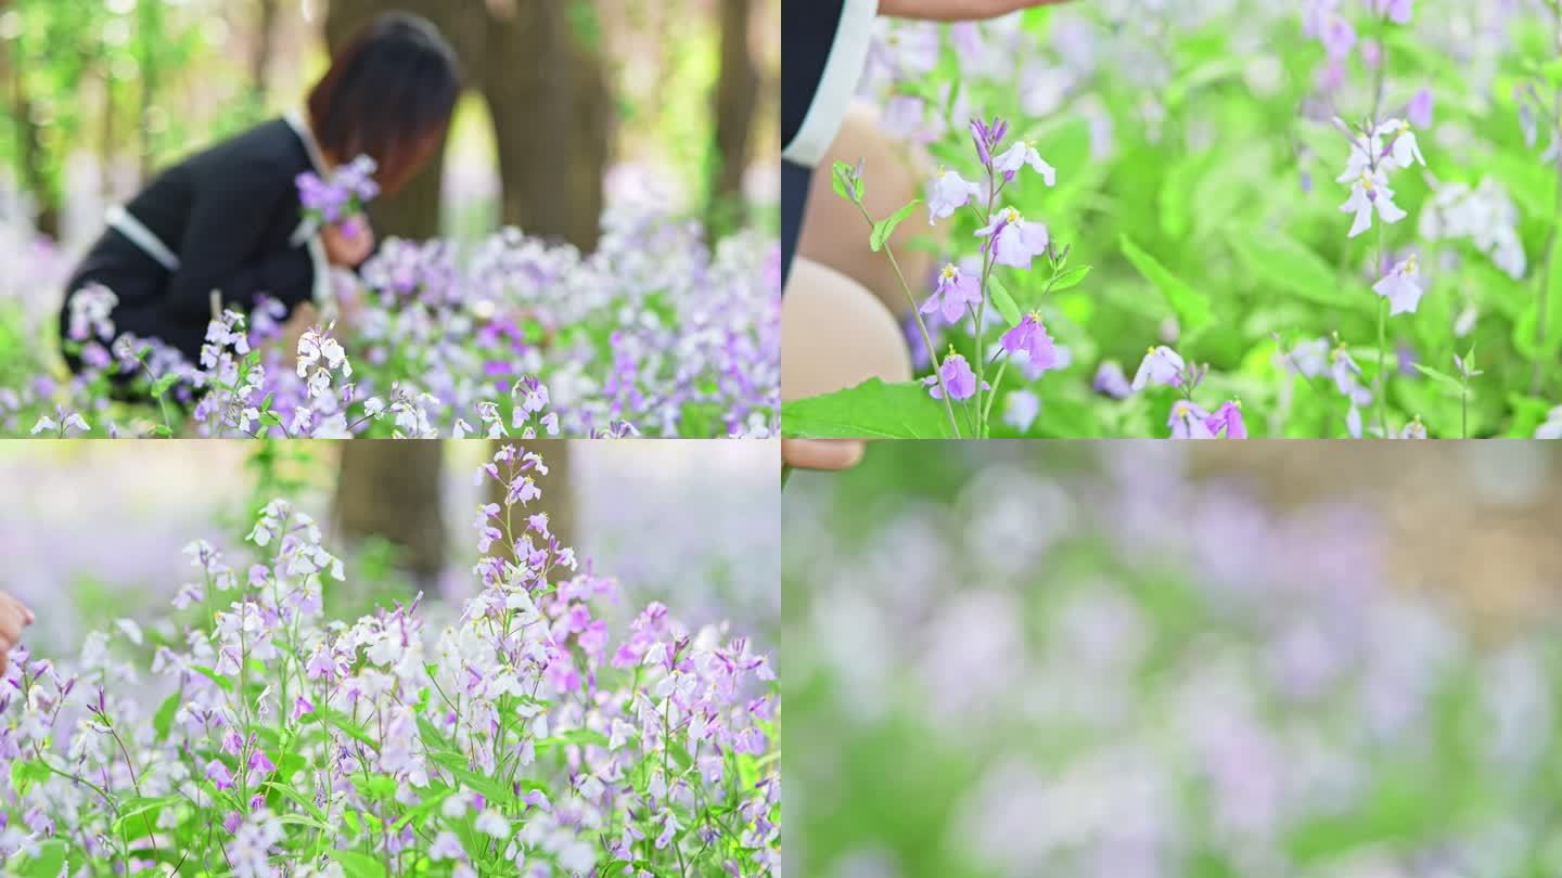
[[[934,170],[862,237],[937,233],[925,378],[786,431],[1562,436],[1559,58],[1556,0],[883,20],[861,95]]]

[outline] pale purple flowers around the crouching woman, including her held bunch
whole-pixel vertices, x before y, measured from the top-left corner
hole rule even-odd
[[[300,177],[308,222],[361,222],[378,194],[362,161]],[[590,255],[515,230],[470,247],[390,239],[333,277],[319,325],[289,336],[276,302],[214,314],[197,362],[117,333],[111,289],[70,291],[58,342],[53,316],[22,298],[36,289],[0,291],[19,294],[0,300],[0,434],[772,434],[773,241],[747,231],[712,250],[698,223],[639,209],[603,225]]]

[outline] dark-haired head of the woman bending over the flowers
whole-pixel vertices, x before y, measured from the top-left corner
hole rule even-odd
[[[334,161],[367,155],[395,192],[439,145],[461,97],[456,53],[426,19],[376,17],[331,59],[309,92],[309,122]]]

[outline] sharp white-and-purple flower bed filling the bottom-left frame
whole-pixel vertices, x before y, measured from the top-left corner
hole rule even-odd
[[[248,558],[205,541],[173,614],[78,656],[19,647],[0,694],[0,862],[19,875],[772,875],[779,695],[767,658],[559,545],[536,453],[478,478],[480,594],[322,617],[342,561],[286,500]]]

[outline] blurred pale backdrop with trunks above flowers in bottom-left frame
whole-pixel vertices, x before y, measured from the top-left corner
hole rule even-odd
[[[122,617],[148,625],[195,569],[184,545],[205,539],[244,569],[255,511],[286,497],[328,530],[347,581],[328,583],[326,609],[353,619],[423,591],[430,612],[456,612],[476,594],[478,467],[490,442],[0,442],[0,589],[28,603],[34,655],[69,656],[87,631]],[[539,478],[553,530],[598,575],[615,576],[626,622],[661,600],[690,628],[731,623],[772,653],[779,645],[781,511],[775,445],[767,442],[517,442],[550,466]],[[403,475],[375,481],[345,469]],[[425,480],[423,473],[434,478]],[[251,547],[253,548],[253,547]]]

